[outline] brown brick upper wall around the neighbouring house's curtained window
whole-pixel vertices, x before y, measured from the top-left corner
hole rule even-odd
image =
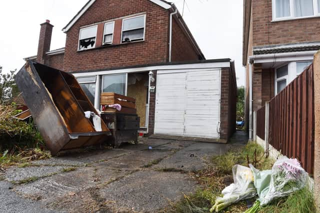
[[[320,41],[320,19],[271,22],[271,0],[252,0],[253,46]]]

